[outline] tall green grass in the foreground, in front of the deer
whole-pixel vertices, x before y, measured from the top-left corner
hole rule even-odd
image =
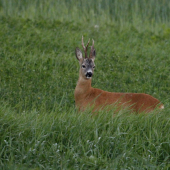
[[[91,117],[90,113],[77,114],[73,108],[64,111],[17,114],[1,106],[1,167],[169,168],[170,119],[165,112],[125,112],[113,118],[112,113],[101,112]]]

